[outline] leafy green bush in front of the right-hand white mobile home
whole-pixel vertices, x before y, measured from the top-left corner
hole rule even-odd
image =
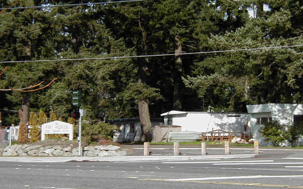
[[[265,123],[261,128],[261,136],[266,142],[272,142],[275,146],[291,139],[290,133],[285,131],[277,121]]]

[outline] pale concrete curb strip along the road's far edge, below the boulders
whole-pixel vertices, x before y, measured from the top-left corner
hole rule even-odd
[[[186,161],[204,159],[254,158],[257,154],[206,155],[206,156],[111,156],[111,157],[0,157],[0,162],[23,163],[64,163],[69,161],[106,161],[106,162],[142,162],[142,161]]]

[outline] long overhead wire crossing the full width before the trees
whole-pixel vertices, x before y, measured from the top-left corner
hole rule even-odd
[[[263,49],[274,49],[274,48],[290,48],[290,47],[300,47],[300,46],[303,46],[303,44],[302,45],[288,45],[288,46],[273,46],[273,47],[260,47],[260,48],[233,49],[233,50],[216,50],[216,51],[204,51],[204,52],[174,53],[174,54],[152,54],[152,55],[138,55],[138,56],[114,56],[114,57],[46,59],[46,60],[23,60],[23,61],[0,61],[0,63],[26,63],[26,62],[44,62],[44,61],[73,61],[73,60],[95,60],[95,59],[142,58],[142,57],[155,57],[155,56],[177,56],[177,55],[208,54],[208,53],[219,53],[219,52],[263,50]]]

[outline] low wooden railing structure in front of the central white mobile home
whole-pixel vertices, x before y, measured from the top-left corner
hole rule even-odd
[[[234,137],[243,137],[242,132],[227,132],[223,130],[213,130],[210,132],[202,133],[202,141],[232,141]]]

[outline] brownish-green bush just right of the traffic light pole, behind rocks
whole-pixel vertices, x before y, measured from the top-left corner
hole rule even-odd
[[[113,139],[114,126],[106,122],[98,122],[96,124],[84,123],[81,125],[81,136],[87,138],[87,142],[91,143],[94,137],[102,137],[107,140]]]

